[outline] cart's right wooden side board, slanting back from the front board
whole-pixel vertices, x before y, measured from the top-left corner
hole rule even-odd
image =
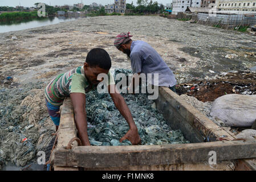
[[[180,129],[191,142],[209,142],[218,140],[219,137],[227,140],[237,139],[233,133],[216,125],[168,88],[159,88],[156,106],[169,125],[173,129]],[[256,158],[240,159],[235,166],[240,170],[256,171]]]

